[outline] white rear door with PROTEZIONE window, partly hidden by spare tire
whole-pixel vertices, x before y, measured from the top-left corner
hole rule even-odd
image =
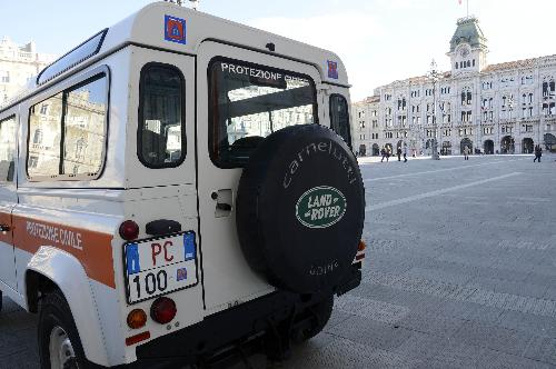
[[[260,140],[286,126],[316,123],[322,111],[320,77],[309,64],[207,41],[197,76],[199,217],[210,313],[274,290],[241,253],[235,213],[239,178]]]

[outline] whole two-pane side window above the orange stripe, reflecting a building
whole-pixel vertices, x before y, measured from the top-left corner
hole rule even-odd
[[[34,180],[97,177],[105,162],[107,109],[103,73],[31,107],[29,177]]]

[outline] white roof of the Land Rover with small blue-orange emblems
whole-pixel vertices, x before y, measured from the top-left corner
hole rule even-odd
[[[170,42],[165,39],[166,16],[186,20],[185,44]],[[90,60],[70,68],[41,86],[37,86],[36,79],[33,78],[31,82],[26,86],[20,93],[18,93],[17,97],[9,100],[3,107],[0,104],[0,112],[19,101],[24,100],[29,96],[33,94],[38,89],[43,89],[56,83],[56,81],[63,79],[66,76],[71,74],[76,70],[79,70],[80,67],[87,66],[91,61],[98,61],[126,44],[135,43],[169,51],[197,54],[201,43],[207,40],[221,41],[239,47],[250,48],[260,52],[267,52],[311,63],[320,72],[322,82],[346,87],[349,86],[344,63],[339,57],[331,51],[170,2],[159,1],[146,6],[138,12],[110,27],[106,33],[102,47]],[[269,52],[266,48],[267,43],[270,42],[276,46],[275,52]],[[337,79],[328,77],[328,61],[337,63]]]

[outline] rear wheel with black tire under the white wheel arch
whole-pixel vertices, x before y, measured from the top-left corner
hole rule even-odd
[[[63,295],[58,290],[49,292],[39,303],[38,343],[41,368],[89,368],[71,310]]]

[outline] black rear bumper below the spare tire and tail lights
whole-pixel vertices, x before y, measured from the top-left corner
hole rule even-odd
[[[336,293],[359,286],[360,265],[354,265]],[[291,319],[330,296],[330,292],[300,296],[277,291],[254,301],[209,316],[201,322],[137,347],[138,361],[132,368],[152,368],[155,363],[195,363],[215,352],[232,348]],[[298,321],[296,321],[296,325]]]

